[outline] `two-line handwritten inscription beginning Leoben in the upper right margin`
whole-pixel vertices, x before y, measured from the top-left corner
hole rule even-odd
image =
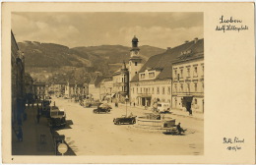
[[[233,17],[229,17],[229,18],[224,18],[224,16],[222,16],[219,19],[219,24],[216,27],[216,30],[218,31],[241,31],[241,30],[247,30],[249,29],[248,26],[246,25],[242,25],[243,21],[239,20],[239,19],[234,19]]]

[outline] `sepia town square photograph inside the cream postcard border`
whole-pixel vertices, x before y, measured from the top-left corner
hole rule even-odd
[[[12,154],[204,154],[203,17],[12,13]]]

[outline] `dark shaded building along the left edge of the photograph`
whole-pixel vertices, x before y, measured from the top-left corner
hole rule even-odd
[[[25,57],[11,30],[12,126],[22,126],[26,107]]]

